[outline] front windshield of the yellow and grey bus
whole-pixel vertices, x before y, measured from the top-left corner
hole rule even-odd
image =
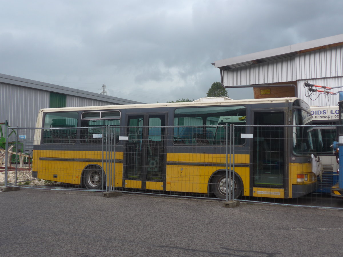
[[[293,152],[295,155],[309,155],[314,152],[312,116],[303,109],[293,111]]]

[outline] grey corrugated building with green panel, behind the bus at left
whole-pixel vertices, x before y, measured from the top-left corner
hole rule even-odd
[[[141,103],[0,74],[0,122],[35,127],[39,109]]]

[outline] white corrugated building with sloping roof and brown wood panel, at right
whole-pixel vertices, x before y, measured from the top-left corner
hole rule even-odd
[[[336,95],[318,97],[316,93],[309,97],[303,85],[308,81],[326,87],[343,86],[343,34],[219,60],[213,65],[220,69],[224,87],[260,86],[254,88],[255,98],[297,96],[312,106],[335,105]],[[263,85],[280,87],[269,87],[268,94],[268,87]],[[343,87],[332,91],[338,90]]]

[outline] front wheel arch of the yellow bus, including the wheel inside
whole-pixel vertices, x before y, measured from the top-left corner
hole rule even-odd
[[[233,186],[233,171],[228,170],[231,172],[231,181],[229,182],[229,187],[232,188]],[[228,176],[230,174],[228,173]],[[235,182],[234,182],[234,192],[235,198],[239,198],[243,191],[243,181],[241,177],[235,172]],[[209,180],[209,192],[212,192],[216,198],[226,198],[226,171],[225,170],[217,170],[214,172]],[[229,193],[231,190],[229,191]],[[232,196],[232,192],[231,192]]]

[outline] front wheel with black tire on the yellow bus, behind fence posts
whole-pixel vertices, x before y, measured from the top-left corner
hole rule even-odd
[[[228,179],[229,175],[228,175]],[[226,176],[225,172],[221,172],[213,177],[212,180],[212,192],[214,195],[219,199],[226,198]],[[233,199],[233,192],[232,192],[232,185],[233,185],[233,178],[231,174],[231,183],[229,184],[229,194],[231,194],[231,199]],[[237,174],[235,174],[235,185],[234,185],[234,192],[235,192],[235,199],[239,198],[242,194],[242,183]]]

